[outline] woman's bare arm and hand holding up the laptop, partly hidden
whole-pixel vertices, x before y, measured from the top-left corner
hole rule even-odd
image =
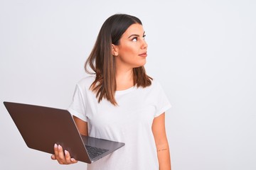
[[[80,120],[75,116],[73,116],[73,118],[75,120],[75,125],[77,125],[80,134],[87,136],[87,122]],[[57,160],[59,164],[74,164],[78,162],[77,160],[70,157],[68,151],[63,151],[63,147],[56,144],[54,145],[54,154],[51,156],[51,159]]]

